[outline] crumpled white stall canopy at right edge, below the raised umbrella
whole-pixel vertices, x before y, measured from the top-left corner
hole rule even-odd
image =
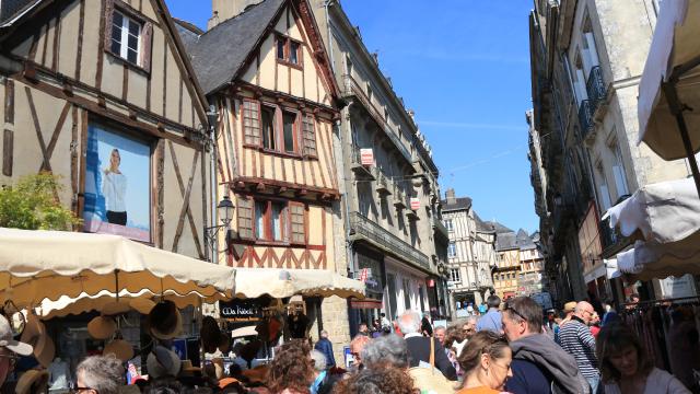
[[[634,240],[617,255],[617,267],[638,279],[700,274],[700,199],[692,179],[668,181],[639,189],[603,219]]]

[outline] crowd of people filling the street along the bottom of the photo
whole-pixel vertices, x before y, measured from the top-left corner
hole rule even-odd
[[[596,318],[586,301],[565,304],[561,318],[551,311],[544,313],[528,297],[501,304],[491,296],[487,304],[488,311],[479,316],[447,327],[433,326],[412,311],[394,322],[382,316],[372,329],[362,324],[349,346],[349,368],[337,364],[328,333],[322,332],[313,347],[306,339],[287,341],[269,364],[247,373],[234,363],[228,376],[209,389],[184,385],[176,379],[177,369],[156,357],[154,368],[164,372],[130,390],[158,394],[690,393],[674,375],[653,366],[642,341],[621,320]],[[7,320],[0,316],[0,384],[18,357],[31,351],[31,346],[12,338]],[[126,387],[122,363],[113,356],[86,358],[75,376],[77,393],[115,394]]]

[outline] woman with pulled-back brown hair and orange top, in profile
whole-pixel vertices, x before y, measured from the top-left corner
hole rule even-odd
[[[488,329],[475,334],[458,357],[465,375],[457,394],[500,393],[505,381],[513,375],[512,357],[503,336]]]

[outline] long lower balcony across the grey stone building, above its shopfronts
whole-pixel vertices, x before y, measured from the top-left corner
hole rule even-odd
[[[430,260],[427,255],[359,212],[350,213],[350,234],[352,241],[364,240],[417,268],[430,270]]]

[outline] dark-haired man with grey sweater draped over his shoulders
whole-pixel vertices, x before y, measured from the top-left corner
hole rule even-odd
[[[503,309],[503,332],[513,350],[513,376],[505,391],[513,394],[586,393],[576,360],[542,334],[541,306],[529,297],[510,299]]]

